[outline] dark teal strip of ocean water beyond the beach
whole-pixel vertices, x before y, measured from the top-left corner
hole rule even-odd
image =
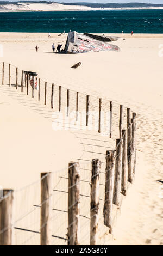
[[[0,13],[0,32],[163,33],[163,10]]]

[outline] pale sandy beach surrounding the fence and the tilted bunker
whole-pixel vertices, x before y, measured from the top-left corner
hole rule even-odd
[[[121,212],[114,224],[114,234],[109,235],[107,230],[103,230],[102,224],[99,224],[99,244],[162,245],[163,188],[160,181],[163,180],[163,34],[109,35],[126,39],[114,42],[120,47],[120,52],[57,54],[52,53],[52,44],[54,42],[56,47],[60,43],[64,48],[64,35],[51,33],[51,38],[48,38],[47,33],[0,33],[0,44],[3,47],[3,57],[0,58],[1,62],[10,63],[20,70],[37,72],[49,84],[93,95],[97,99],[102,97],[104,102],[115,102],[116,109],[118,104],[123,104],[137,113],[135,180],[123,200]],[[38,52],[35,51],[36,45],[39,46]],[[77,62],[82,65],[71,69]],[[82,164],[81,159],[91,160],[99,156],[104,159],[106,148],[115,147],[114,139],[98,135],[95,131],[54,131],[52,120],[46,112],[52,114],[53,111],[46,106],[41,108],[41,103],[36,102],[36,99],[29,98],[25,92],[21,94],[20,88],[16,92],[15,88],[0,86],[0,92],[2,187],[20,190],[39,180],[40,173],[46,171],[61,170],[60,173],[66,175],[68,162],[79,161]],[[115,114],[118,115],[118,110]],[[125,129],[126,123],[123,126]],[[118,130],[113,132],[114,138],[118,138]],[[91,146],[90,139],[94,140]],[[84,164],[86,166],[88,163]],[[104,165],[102,172],[105,172]],[[83,172],[81,176],[88,177],[89,181],[90,174]],[[61,186],[67,186],[67,181],[62,180]],[[102,174],[101,183],[103,182]],[[55,189],[61,190],[61,186],[56,186]],[[90,194],[90,188],[87,190],[85,184],[82,186],[86,198]],[[38,199],[38,187],[36,191],[35,198]],[[29,191],[24,192],[24,198],[27,198],[28,192],[30,196],[33,193],[29,188]],[[57,198],[58,208],[66,209],[65,194],[59,199],[58,192]],[[86,205],[90,202],[87,198],[85,200],[87,203],[82,201],[82,214],[89,218]],[[24,201],[22,204],[25,212]],[[81,220],[83,228],[89,223],[86,217]],[[35,218],[36,215],[33,216],[34,221]],[[59,218],[61,220],[62,216]],[[64,215],[63,218],[66,222],[67,217]],[[21,225],[23,227],[23,223]],[[66,228],[64,229],[66,234]],[[84,232],[86,230],[83,230],[83,236]],[[61,235],[58,233],[58,236]],[[26,233],[22,237],[24,239]],[[23,239],[24,242],[26,239]],[[62,241],[65,244],[65,240],[54,243],[61,244]],[[85,242],[84,237],[82,241]],[[37,238],[31,242],[37,243]],[[21,242],[18,240],[15,243]]]

